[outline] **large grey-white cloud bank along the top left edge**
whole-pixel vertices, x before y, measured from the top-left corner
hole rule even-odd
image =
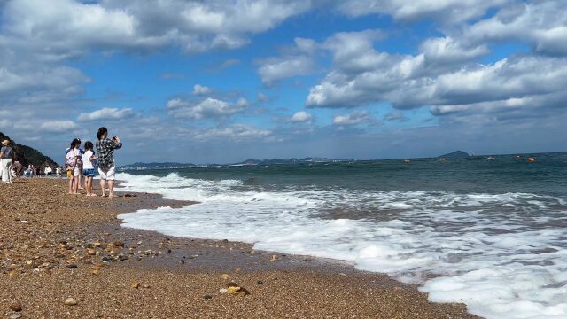
[[[4,5],[4,42],[32,47],[44,58],[91,49],[146,51],[176,45],[185,51],[233,49],[310,8],[304,1],[19,0]],[[36,32],[42,30],[42,32]]]

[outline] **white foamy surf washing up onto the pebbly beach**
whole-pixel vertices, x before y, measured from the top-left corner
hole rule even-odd
[[[567,317],[567,216],[528,193],[262,191],[240,181],[120,174],[128,191],[197,200],[120,214],[123,226],[354,261],[487,318]],[[329,212],[371,211],[365,218]],[[356,216],[356,214],[352,214]],[[563,225],[563,227],[561,226]]]

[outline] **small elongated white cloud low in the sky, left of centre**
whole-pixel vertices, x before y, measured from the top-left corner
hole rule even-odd
[[[241,97],[234,103],[207,97],[204,100],[185,100],[173,98],[167,101],[169,113],[179,118],[212,119],[241,113],[248,106],[248,101]]]

